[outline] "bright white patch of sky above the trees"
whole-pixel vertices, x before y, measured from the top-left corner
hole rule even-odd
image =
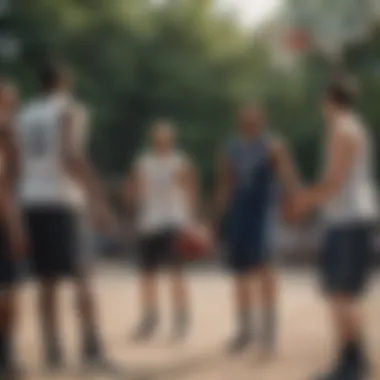
[[[218,8],[236,12],[244,26],[255,27],[268,19],[283,0],[217,0]]]

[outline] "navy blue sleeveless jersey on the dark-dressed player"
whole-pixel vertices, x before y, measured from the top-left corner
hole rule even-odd
[[[267,136],[238,138],[228,147],[232,193],[227,238],[233,246],[244,243],[248,249],[267,240],[276,198],[269,143]]]

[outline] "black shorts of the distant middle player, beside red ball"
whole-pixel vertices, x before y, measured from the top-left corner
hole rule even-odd
[[[144,234],[139,242],[139,265],[143,271],[154,271],[161,266],[178,267],[182,260],[173,249],[175,229]]]

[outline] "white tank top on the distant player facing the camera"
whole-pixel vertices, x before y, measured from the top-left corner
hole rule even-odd
[[[177,228],[190,221],[190,208],[180,175],[187,164],[181,153],[160,157],[145,153],[137,161],[142,189],[138,227],[141,232]]]

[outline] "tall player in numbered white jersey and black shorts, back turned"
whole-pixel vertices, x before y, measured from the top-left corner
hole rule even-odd
[[[97,227],[104,227],[109,213],[101,186],[78,147],[78,128],[83,127],[80,125],[83,118],[70,95],[67,71],[48,64],[39,79],[42,93],[20,112],[18,135],[22,159],[20,191],[32,269],[40,282],[45,357],[51,369],[63,365],[56,302],[60,280],[69,277],[75,281],[77,290],[83,359],[86,364],[100,364],[102,347],[88,266],[82,256],[83,211],[78,210],[69,180],[85,193]]]

